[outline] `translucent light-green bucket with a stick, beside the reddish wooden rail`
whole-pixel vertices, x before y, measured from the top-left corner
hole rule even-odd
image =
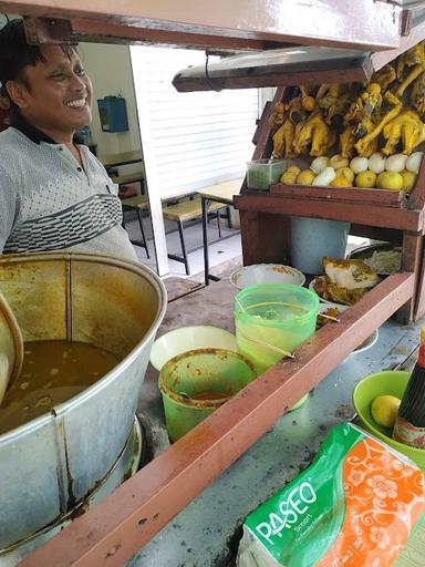
[[[249,286],[235,297],[238,351],[262,374],[284,358],[272,347],[292,352],[314,334],[318,312],[319,298],[309,289],[292,284]],[[292,409],[305,400],[307,395]]]

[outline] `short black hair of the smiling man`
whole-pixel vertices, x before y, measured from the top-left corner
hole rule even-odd
[[[74,47],[62,45],[64,53],[71,56]],[[11,20],[0,30],[0,83],[1,94],[7,95],[6,83],[21,80],[25,83],[22,71],[28,65],[37,65],[39,61],[45,61],[40,45],[27,42],[22,19]]]

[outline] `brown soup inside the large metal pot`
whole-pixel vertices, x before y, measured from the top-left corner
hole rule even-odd
[[[104,377],[120,360],[84,342],[27,342],[22,372],[0,405],[0,434],[73,398]]]

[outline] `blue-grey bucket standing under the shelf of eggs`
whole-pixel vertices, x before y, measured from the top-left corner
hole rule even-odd
[[[344,258],[350,223],[291,217],[291,266],[304,274],[323,274],[322,258]]]

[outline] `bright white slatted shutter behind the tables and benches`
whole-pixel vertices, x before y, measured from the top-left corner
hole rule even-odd
[[[164,199],[242,177],[253,152],[259,91],[178,93],[174,75],[204,63],[204,52],[145,47],[131,52],[151,196]]]

